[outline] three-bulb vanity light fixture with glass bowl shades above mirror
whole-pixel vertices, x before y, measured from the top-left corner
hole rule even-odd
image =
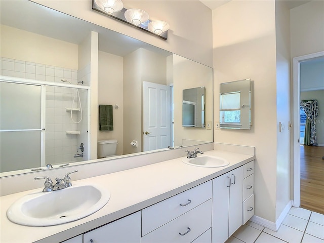
[[[121,0],[92,0],[92,9],[160,38],[168,39],[170,25],[167,22],[149,20],[148,13],[141,9],[127,10]]]

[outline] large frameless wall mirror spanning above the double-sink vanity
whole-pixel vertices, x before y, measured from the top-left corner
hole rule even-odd
[[[0,176],[98,161],[99,140],[116,141],[109,159],[213,142],[213,130],[182,127],[182,90],[192,87],[205,87],[213,124],[211,67],[27,0],[1,1],[0,48],[1,118],[13,120],[1,120]],[[93,101],[109,106],[113,129],[92,129]],[[144,117],[154,102],[166,114]],[[145,145],[162,127],[163,141]]]

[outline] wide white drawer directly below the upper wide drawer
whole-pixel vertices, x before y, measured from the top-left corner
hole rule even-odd
[[[212,199],[142,237],[142,243],[191,242],[212,226]]]

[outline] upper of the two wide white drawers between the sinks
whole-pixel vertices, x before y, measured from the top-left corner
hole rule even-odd
[[[212,181],[142,210],[142,236],[212,198]]]

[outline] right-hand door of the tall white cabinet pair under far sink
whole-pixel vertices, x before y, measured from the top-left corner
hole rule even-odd
[[[228,236],[231,236],[242,225],[243,167],[231,171],[230,178]]]

